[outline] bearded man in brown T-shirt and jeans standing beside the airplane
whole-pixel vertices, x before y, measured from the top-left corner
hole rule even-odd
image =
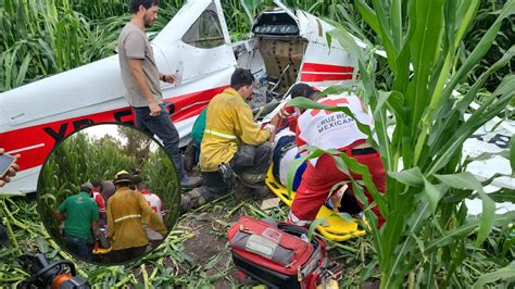
[[[188,177],[184,171],[183,154],[179,151],[179,134],[169,120],[163,104],[160,80],[173,84],[174,76],[159,72],[152,46],[145,28],[158,18],[159,0],[131,0],[130,22],[122,29],[118,38],[118,60],[127,92],[125,98],[133,106],[136,126],[150,135],[156,135],[166,153],[174,162],[184,187],[200,185],[199,177]]]

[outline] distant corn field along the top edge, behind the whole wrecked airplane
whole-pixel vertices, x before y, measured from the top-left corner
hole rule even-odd
[[[59,72],[112,55],[116,39],[128,18],[126,0],[1,0],[0,5],[0,91],[37,80]],[[183,7],[184,0],[162,0],[160,17],[151,32],[159,32]],[[222,5],[227,26],[234,40],[248,37],[251,22],[241,2],[255,16],[272,0],[224,0]],[[353,0],[284,0],[286,5],[307,11],[324,17],[331,24],[343,26],[368,42],[377,36],[352,4]],[[472,51],[478,37],[493,23],[494,12],[506,0],[480,1],[474,27],[467,34],[460,59]],[[370,3],[370,1],[367,1]],[[510,49],[513,39],[513,20],[503,23],[490,53],[481,61],[489,67],[503,52]],[[379,60],[381,64],[382,61]],[[380,65],[382,67],[382,65]],[[478,72],[480,72],[479,70]],[[381,75],[378,85],[389,81],[389,72]],[[493,91],[503,75],[513,73],[513,61],[492,75],[487,88]],[[474,83],[478,73],[470,74]],[[493,85],[492,85],[493,84]]]

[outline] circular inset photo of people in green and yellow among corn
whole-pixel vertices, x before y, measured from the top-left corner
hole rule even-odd
[[[89,126],[60,142],[38,181],[38,211],[73,256],[121,264],[155,249],[179,213],[180,184],[164,149],[122,124]]]

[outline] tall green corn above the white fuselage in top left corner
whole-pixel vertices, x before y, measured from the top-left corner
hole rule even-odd
[[[163,1],[159,30],[184,1]],[[126,0],[2,0],[0,91],[114,54]]]

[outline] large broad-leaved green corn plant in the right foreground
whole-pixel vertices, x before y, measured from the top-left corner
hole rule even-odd
[[[483,72],[465,95],[454,97],[452,92],[485,58],[503,21],[515,13],[515,1],[506,2],[463,61],[456,60],[457,51],[479,1],[374,0],[372,5],[364,0],[355,2],[379,36],[378,45],[387,51],[392,85],[387,91],[376,88],[374,48],[362,51],[344,29],[329,33],[329,39],[338,40],[359,60],[363,79],[359,87],[372,108],[374,133],[379,139],[375,146],[389,174],[388,192],[378,192],[368,169],[342,153],[312,148],[307,158],[330,153],[337,155],[335,161],[340,169],[363,175],[362,185],[387,218],[382,228],[377,229],[375,215],[365,210],[381,272],[381,288],[463,286],[459,278],[461,266],[474,256],[476,251],[472,248],[481,247],[494,226],[505,227],[515,218],[515,212],[495,215],[494,202],[483,189],[491,179],[481,184],[465,172],[462,159],[463,142],[513,99],[515,76],[508,75],[468,118],[464,117],[488,77],[512,60],[514,47]],[[305,99],[293,100],[292,104],[352,115],[346,108],[329,108]],[[389,114],[395,121],[391,136],[387,130]],[[360,125],[360,129],[373,141],[368,127]],[[512,141],[512,153],[513,147]],[[363,188],[357,181],[352,184],[359,199],[366,203]],[[501,191],[510,194],[507,189]],[[478,218],[467,216],[465,198],[482,200],[483,210]],[[472,240],[466,238],[474,240],[475,247],[470,248]],[[499,269],[501,277],[494,280],[513,277],[513,265],[501,264],[506,269]]]

